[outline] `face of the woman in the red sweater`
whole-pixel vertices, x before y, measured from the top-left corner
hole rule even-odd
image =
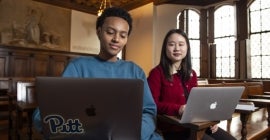
[[[187,42],[182,35],[173,33],[169,36],[166,46],[166,55],[173,63],[181,62],[186,57],[187,50]]]

